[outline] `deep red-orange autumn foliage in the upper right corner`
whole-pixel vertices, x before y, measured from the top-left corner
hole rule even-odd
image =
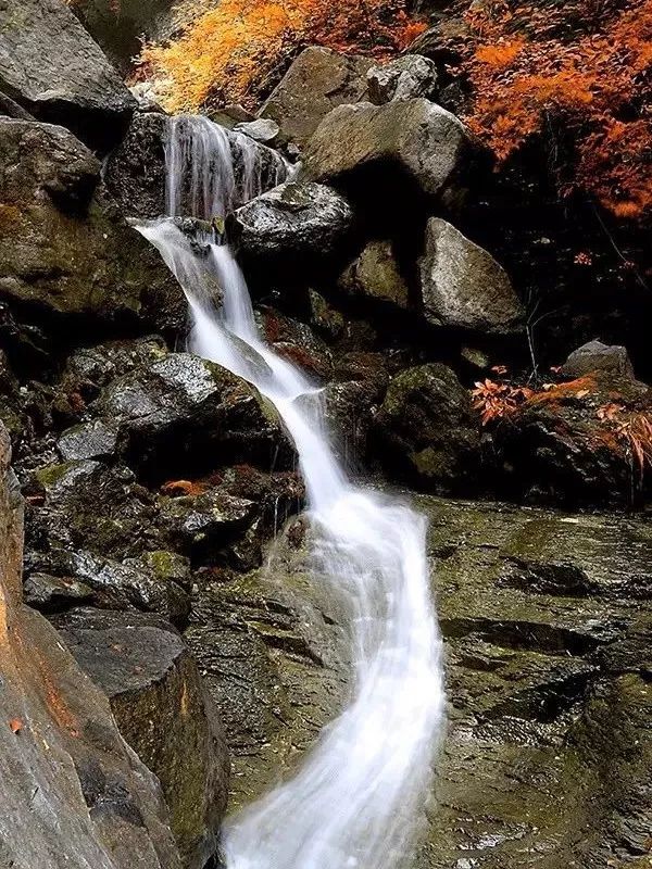
[[[573,152],[562,193],[589,191],[619,217],[649,212],[652,0],[464,5],[461,65],[473,88],[466,119],[499,160],[543,131]]]

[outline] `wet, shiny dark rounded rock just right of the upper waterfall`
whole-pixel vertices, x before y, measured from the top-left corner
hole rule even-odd
[[[341,254],[352,223],[349,203],[335,190],[288,181],[238,209],[229,231],[250,267],[296,269]]]

